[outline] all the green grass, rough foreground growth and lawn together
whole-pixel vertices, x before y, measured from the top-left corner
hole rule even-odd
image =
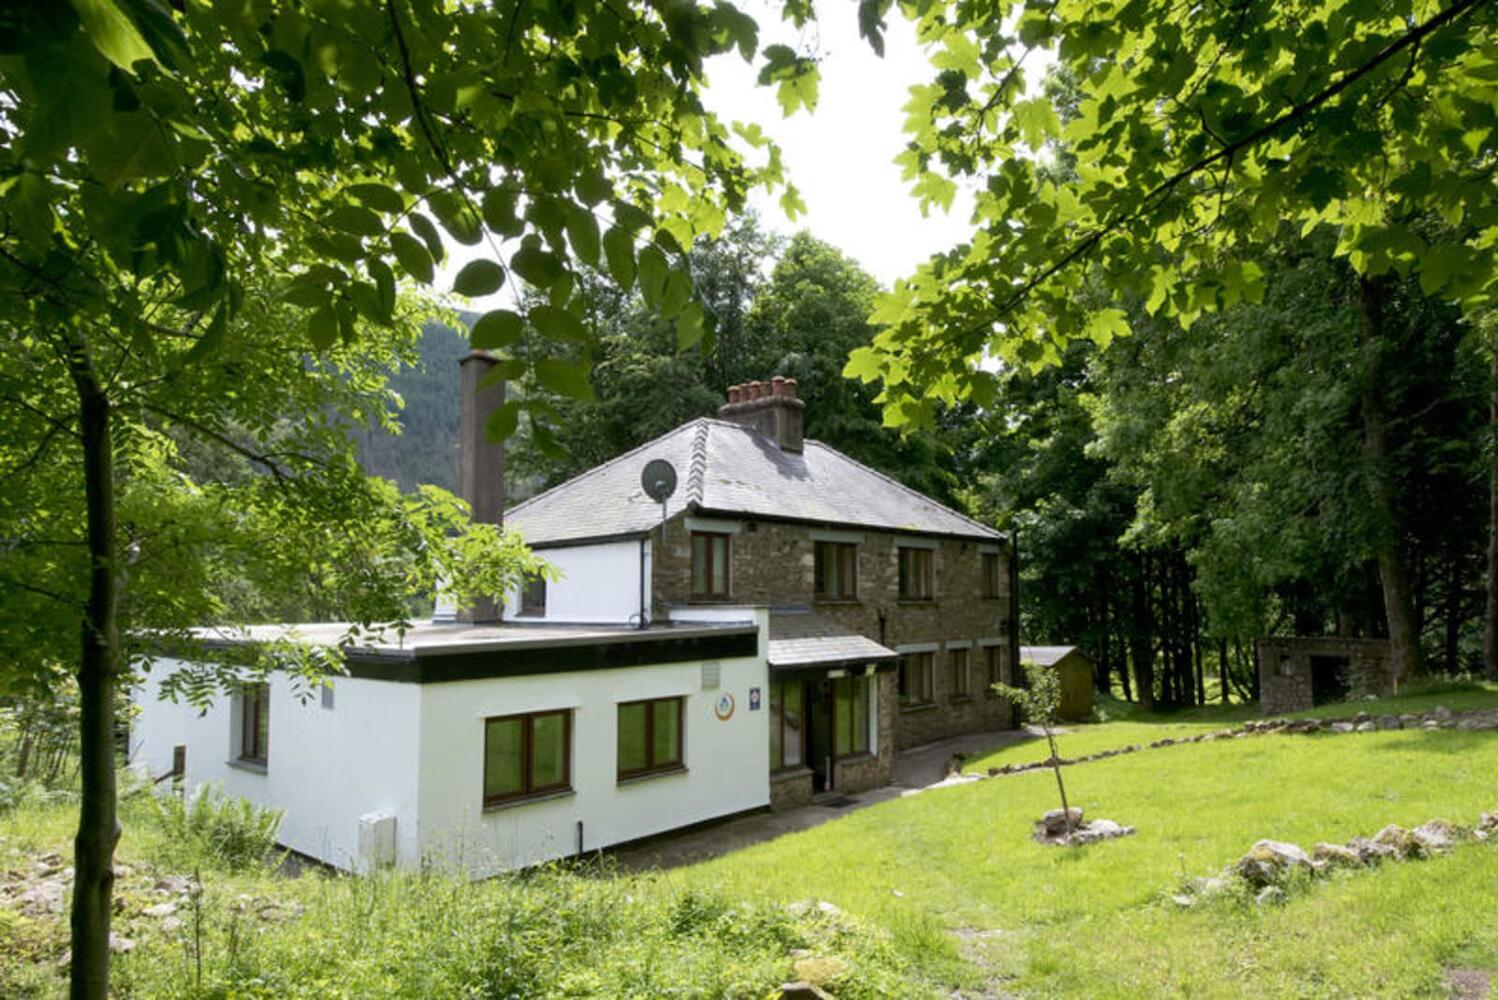
[[[1495,707],[1498,687],[1315,714],[1437,704]],[[1104,711],[1115,720],[1064,735],[1064,754],[1251,717],[1242,707]],[[1005,753],[1022,751],[1040,747]],[[954,987],[1037,997],[1443,997],[1444,967],[1498,972],[1498,844],[1317,880],[1275,907],[1234,895],[1180,909],[1168,897],[1260,837],[1311,847],[1390,822],[1471,825],[1498,808],[1494,775],[1494,732],[1249,737],[1068,768],[1074,804],[1138,828],[1076,850],[1029,838],[1056,804],[1043,769],[897,798],[667,874],[551,868],[481,885],[443,874],[234,871],[186,858],[154,811],[130,799],[120,855],[136,870],[121,877],[117,928],[136,949],[115,960],[115,993],[762,997],[795,978],[804,949],[843,970],[828,984],[839,997]],[[67,802],[0,813],[0,871],[40,850],[66,853],[72,823]],[[205,883],[201,949],[190,919],[168,933],[141,915],[156,901],[154,874],[190,864]],[[786,906],[819,900],[842,916]],[[280,916],[264,916],[267,907]],[[64,919],[0,907],[0,996],[60,996],[64,949]]]

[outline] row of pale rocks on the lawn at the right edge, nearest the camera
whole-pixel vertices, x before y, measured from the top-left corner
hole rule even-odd
[[[1180,906],[1222,895],[1239,886],[1254,894],[1263,906],[1287,898],[1285,886],[1300,879],[1315,879],[1339,868],[1365,868],[1384,861],[1417,861],[1446,853],[1464,840],[1498,843],[1498,811],[1483,813],[1471,829],[1447,819],[1432,819],[1414,829],[1390,823],[1372,837],[1354,837],[1347,844],[1315,844],[1309,853],[1299,844],[1260,840],[1222,874],[1192,879],[1185,891],[1171,897]]]

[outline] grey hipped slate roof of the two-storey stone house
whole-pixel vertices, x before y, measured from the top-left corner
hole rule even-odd
[[[730,421],[700,418],[505,512],[530,545],[643,534],[661,504],[640,488],[652,458],[676,467],[665,515],[756,515],[999,540],[993,528],[903,487],[842,452],[807,440],[797,455]]]

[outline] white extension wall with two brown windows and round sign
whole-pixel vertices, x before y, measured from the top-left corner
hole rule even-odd
[[[761,636],[767,615],[759,612]],[[703,663],[580,671],[422,687],[419,841],[430,859],[475,876],[596,850],[770,802],[767,668],[759,656],[713,660],[721,681],[703,690]],[[749,711],[749,689],[761,692]],[[731,695],[734,713],[713,708]],[[685,696],[685,772],[620,784],[619,702]],[[572,793],[484,808],[484,719],[571,708]]]

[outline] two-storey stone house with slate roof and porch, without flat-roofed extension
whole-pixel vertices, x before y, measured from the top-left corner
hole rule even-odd
[[[1013,725],[1010,540],[815,440],[795,382],[734,386],[718,419],[659,439],[505,512],[562,578],[514,620],[637,624],[770,609],[773,807],[893,780],[894,751]],[[676,470],[646,496],[652,460]],[[758,705],[750,705],[758,710]]]

